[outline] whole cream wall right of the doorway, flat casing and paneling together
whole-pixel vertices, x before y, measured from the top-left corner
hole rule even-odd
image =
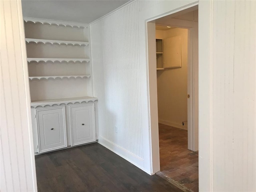
[[[256,191],[255,1],[199,3],[199,188]]]

